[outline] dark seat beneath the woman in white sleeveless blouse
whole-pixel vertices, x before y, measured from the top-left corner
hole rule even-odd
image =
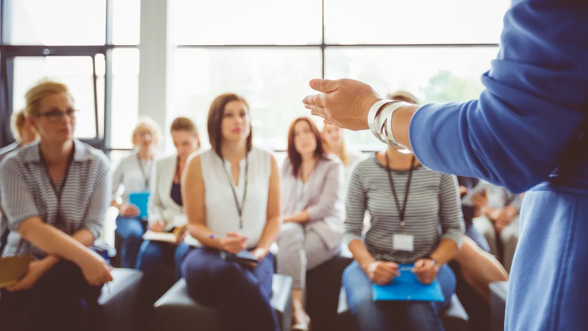
[[[274,274],[272,292],[271,302],[278,315],[280,329],[289,331],[292,326],[292,278]],[[153,331],[185,331],[195,326],[201,331],[219,330],[216,310],[192,300],[184,279],[163,294],[153,307]]]

